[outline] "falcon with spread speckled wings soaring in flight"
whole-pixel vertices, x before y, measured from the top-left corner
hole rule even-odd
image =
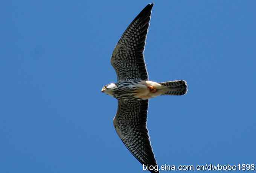
[[[157,163],[146,127],[148,99],[187,93],[184,80],[162,83],[148,80],[143,52],[153,5],[154,3],[148,4],[119,39],[111,57],[117,82],[105,85],[101,90],[118,100],[118,109],[113,120],[117,135],[141,164],[149,166]]]

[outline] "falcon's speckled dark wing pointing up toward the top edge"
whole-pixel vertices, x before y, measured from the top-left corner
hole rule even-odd
[[[116,71],[117,80],[148,80],[143,52],[153,5],[148,4],[137,15],[114,49],[111,65]]]

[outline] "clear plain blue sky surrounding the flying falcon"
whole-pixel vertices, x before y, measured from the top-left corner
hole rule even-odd
[[[0,172],[143,172],[114,127],[114,46],[152,1],[5,1],[1,10]],[[149,79],[185,96],[149,102],[159,165],[256,162],[256,2],[157,1]]]

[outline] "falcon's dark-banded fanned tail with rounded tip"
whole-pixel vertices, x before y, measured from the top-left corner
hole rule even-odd
[[[181,96],[187,93],[187,82],[185,80],[174,80],[169,82],[162,82],[159,84],[167,86],[169,89],[169,91],[161,94],[160,96]]]

